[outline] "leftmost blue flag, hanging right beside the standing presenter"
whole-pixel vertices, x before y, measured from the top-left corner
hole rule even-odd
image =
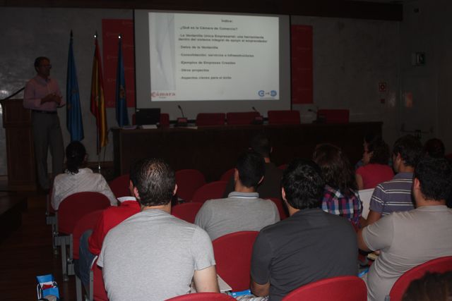
[[[78,93],[78,81],[76,62],[73,59],[72,31],[69,42],[68,74],[66,78],[66,127],[71,134],[72,141],[81,141],[83,135],[82,110],[80,106],[80,94]]]

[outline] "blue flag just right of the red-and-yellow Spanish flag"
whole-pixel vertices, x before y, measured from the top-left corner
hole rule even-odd
[[[119,35],[118,68],[116,73],[116,120],[123,127],[129,125],[126,102],[126,78],[124,77],[124,61],[122,59],[122,37]]]

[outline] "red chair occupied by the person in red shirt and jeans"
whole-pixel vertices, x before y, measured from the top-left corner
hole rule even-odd
[[[85,214],[81,219],[78,220],[76,223],[76,226],[73,228],[72,232],[72,247],[73,250],[71,250],[71,259],[69,259],[69,262],[72,261],[72,259],[78,259],[78,247],[80,247],[80,238],[88,230],[93,230],[96,226],[97,221],[100,218],[100,214],[102,214],[103,210],[96,210],[93,212],[90,212],[88,214]],[[77,294],[77,300],[82,300],[82,283],[80,278],[76,276],[76,294]]]

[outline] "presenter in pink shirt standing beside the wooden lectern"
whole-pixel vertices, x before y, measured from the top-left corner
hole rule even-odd
[[[64,145],[57,108],[65,102],[56,80],[50,78],[50,60],[44,56],[35,59],[37,75],[25,85],[23,106],[31,110],[33,142],[37,178],[43,190],[49,190],[47,173],[47,152],[52,155],[53,176],[63,172]]]

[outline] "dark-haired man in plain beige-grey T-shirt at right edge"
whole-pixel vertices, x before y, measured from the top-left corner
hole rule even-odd
[[[451,164],[424,156],[412,183],[416,209],[383,216],[358,231],[361,250],[381,252],[364,277],[369,301],[383,300],[405,271],[452,255],[452,210],[446,207],[451,190]]]

